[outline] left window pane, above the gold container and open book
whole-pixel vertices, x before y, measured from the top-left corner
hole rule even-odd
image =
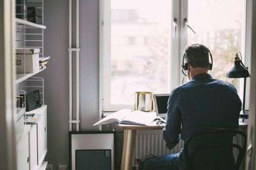
[[[170,92],[170,0],[111,0],[111,104]]]

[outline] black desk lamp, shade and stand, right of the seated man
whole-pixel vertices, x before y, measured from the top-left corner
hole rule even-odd
[[[240,112],[240,117],[248,118],[248,110],[247,111],[244,110],[244,105],[245,105],[246,77],[249,77],[250,74],[248,71],[248,67],[244,66],[243,62],[238,56],[238,53],[242,58],[241,52],[237,52],[236,55],[234,56],[234,66],[228,69],[226,76],[228,78],[244,78],[243,107],[242,107],[242,111]]]

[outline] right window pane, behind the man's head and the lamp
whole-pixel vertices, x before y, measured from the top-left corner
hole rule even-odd
[[[227,81],[239,88],[239,79],[226,78],[234,64],[233,56],[241,51],[245,0],[189,0],[188,22],[196,34],[188,29],[188,45],[202,43],[212,53],[214,78]]]

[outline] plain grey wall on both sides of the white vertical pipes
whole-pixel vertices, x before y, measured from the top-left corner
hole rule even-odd
[[[75,2],[75,1],[74,1]],[[45,78],[49,164],[68,164],[68,1],[45,1]],[[81,131],[99,119],[99,0],[80,1]]]

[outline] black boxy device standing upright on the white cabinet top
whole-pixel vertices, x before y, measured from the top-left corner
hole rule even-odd
[[[39,90],[34,90],[26,94],[26,111],[35,110],[40,108],[42,104],[40,103],[40,92]]]

